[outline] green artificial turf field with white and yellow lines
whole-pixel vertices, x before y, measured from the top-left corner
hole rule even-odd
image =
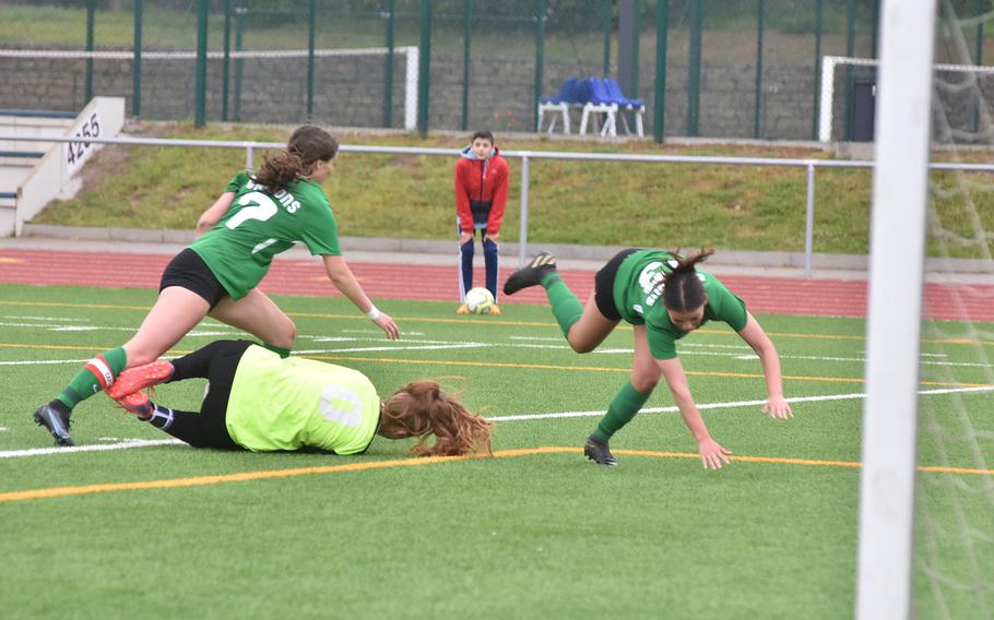
[[[34,408],[127,339],[154,291],[0,285],[4,618],[852,615],[862,320],[758,317],[786,396],[808,398],[786,421],[753,403],[765,385],[741,338],[691,334],[684,367],[732,464],[705,472],[667,409],[615,436],[620,466],[606,468],[580,446],[626,381],[630,330],[580,356],[547,308],[458,318],[450,302],[380,300],[404,336],[390,343],[342,298],[274,298],[299,354],[363,371],[381,395],[419,378],[460,390],[495,419],[497,457],[412,460],[382,439],[348,457],[142,443],[169,438],[103,395],[73,414],[83,449],[47,450]],[[926,330],[923,391],[994,382],[981,327]],[[208,320],[173,353],[239,334]],[[163,385],[156,401],[196,410],[203,388]],[[994,610],[991,404],[990,391],[922,397],[920,465],[966,470],[920,474],[918,617]],[[671,405],[661,386],[646,407]]]

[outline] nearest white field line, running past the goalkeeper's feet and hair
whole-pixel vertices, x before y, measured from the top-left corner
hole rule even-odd
[[[994,391],[994,386],[985,388],[943,388],[937,390],[921,390],[919,394],[923,396],[932,396],[939,394],[956,394],[956,393],[967,393],[967,392],[991,392]],[[866,394],[856,393],[856,394],[831,394],[827,396],[800,396],[795,398],[788,398],[789,403],[814,403],[823,401],[847,401],[847,400],[857,400],[865,398]],[[706,403],[698,405],[698,409],[733,409],[739,407],[759,407],[762,406],[766,401],[738,401],[731,403]],[[660,413],[670,413],[676,412],[675,406],[668,407],[649,407],[641,409],[641,414],[660,414]],[[509,422],[509,421],[519,421],[519,420],[543,420],[543,419],[554,419],[554,418],[579,418],[579,417],[593,417],[593,416],[603,416],[604,409],[597,409],[595,412],[560,412],[553,414],[525,414],[518,416],[493,416],[487,418],[494,422]],[[115,439],[115,438],[103,438],[103,439]],[[155,445],[185,445],[184,442],[178,439],[127,439],[118,443],[102,443],[94,445],[76,445],[73,448],[32,448],[27,450],[7,450],[0,451],[0,458],[17,458],[24,456],[39,456],[46,454],[78,454],[81,452],[108,452],[111,450],[129,450],[132,448],[149,448]]]

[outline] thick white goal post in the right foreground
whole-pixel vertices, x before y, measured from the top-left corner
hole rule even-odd
[[[880,10],[856,575],[860,620],[911,617],[935,9],[935,0],[884,0]]]

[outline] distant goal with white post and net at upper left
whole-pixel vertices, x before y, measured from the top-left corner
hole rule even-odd
[[[306,49],[209,51],[206,116],[211,121],[338,127],[417,124],[418,49],[413,46],[316,49],[313,83]],[[389,65],[388,65],[389,64]],[[192,118],[194,51],[0,49],[0,108],[78,110],[85,94],[120,96],[133,115],[139,94],[143,119]]]

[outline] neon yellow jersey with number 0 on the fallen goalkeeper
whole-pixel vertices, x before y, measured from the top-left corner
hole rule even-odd
[[[372,442],[379,416],[379,396],[362,372],[252,345],[235,370],[225,425],[252,452],[355,454]]]

